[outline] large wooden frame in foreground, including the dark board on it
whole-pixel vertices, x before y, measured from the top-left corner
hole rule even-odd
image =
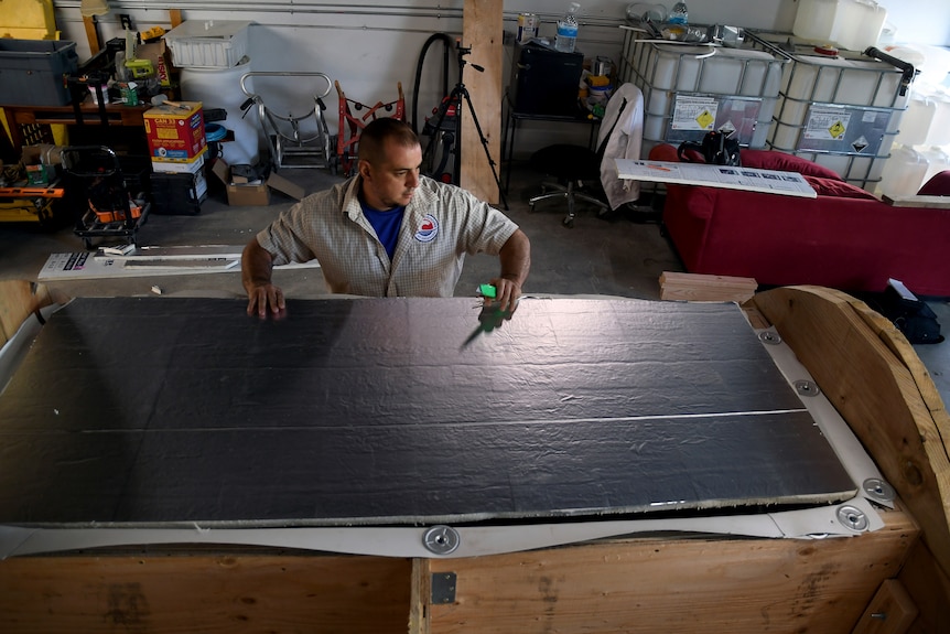
[[[463,345],[474,299],[74,300],[0,395],[0,622],[851,632],[940,600],[946,447],[862,429],[935,426],[919,372],[842,297],[747,308],[531,298]]]

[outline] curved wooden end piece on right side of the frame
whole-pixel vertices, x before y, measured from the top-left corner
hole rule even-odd
[[[831,289],[773,289],[755,304],[867,448],[946,573],[950,421],[907,340],[866,304]]]

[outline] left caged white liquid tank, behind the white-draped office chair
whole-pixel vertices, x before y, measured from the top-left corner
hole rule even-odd
[[[660,142],[730,130],[765,147],[786,61],[762,50],[665,44],[627,30],[620,76],[644,94],[641,157]]]

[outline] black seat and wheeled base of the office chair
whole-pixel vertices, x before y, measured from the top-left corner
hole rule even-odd
[[[609,212],[611,207],[603,197],[596,197],[597,191],[603,196],[601,187],[602,154],[583,146],[558,143],[541,148],[531,154],[530,165],[537,172],[552,176],[555,180],[541,182],[541,193],[528,201],[528,206],[535,211],[535,205],[549,198],[566,198],[568,215],[561,221],[568,228],[574,226],[574,204],[585,201],[601,208],[601,214]],[[593,183],[592,189],[587,183]],[[557,191],[548,192],[552,187]]]

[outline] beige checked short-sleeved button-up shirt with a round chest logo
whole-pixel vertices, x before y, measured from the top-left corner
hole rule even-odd
[[[465,190],[421,176],[390,261],[363,215],[359,179],[307,196],[257,235],[276,266],[316,259],[335,293],[452,297],[465,255],[497,256],[518,229]]]

